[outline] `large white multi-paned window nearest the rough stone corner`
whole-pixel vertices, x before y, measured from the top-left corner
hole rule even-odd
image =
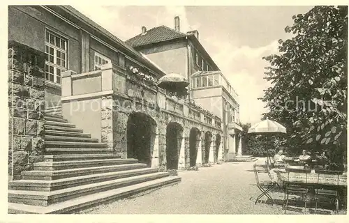
[[[67,68],[67,40],[49,31],[45,33],[45,79],[61,84],[61,72]]]

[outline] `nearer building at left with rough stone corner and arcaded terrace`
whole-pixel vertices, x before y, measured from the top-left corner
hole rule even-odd
[[[44,128],[52,106],[113,153],[149,167],[223,160],[221,118],[158,88],[165,73],[133,47],[70,6],[10,6],[8,17],[11,178],[54,144]]]

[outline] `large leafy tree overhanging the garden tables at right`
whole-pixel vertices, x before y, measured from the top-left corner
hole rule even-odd
[[[279,55],[264,57],[270,63],[265,79],[265,116],[288,130],[293,151],[327,151],[332,169],[346,162],[348,92],[348,7],[315,6],[293,16],[279,40]]]

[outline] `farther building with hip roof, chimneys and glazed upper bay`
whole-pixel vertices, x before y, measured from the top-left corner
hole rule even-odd
[[[180,18],[174,17],[174,29],[157,26],[126,40],[161,66],[165,72],[186,77],[189,98],[196,105],[221,118],[223,123],[224,160],[237,160],[242,155],[242,126],[239,121],[238,95],[200,43],[197,30],[184,33]]]

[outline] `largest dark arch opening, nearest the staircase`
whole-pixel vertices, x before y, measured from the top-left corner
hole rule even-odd
[[[127,157],[135,158],[151,167],[153,157],[158,157],[157,125],[151,116],[131,112],[127,121]],[[155,149],[154,149],[155,148]]]

